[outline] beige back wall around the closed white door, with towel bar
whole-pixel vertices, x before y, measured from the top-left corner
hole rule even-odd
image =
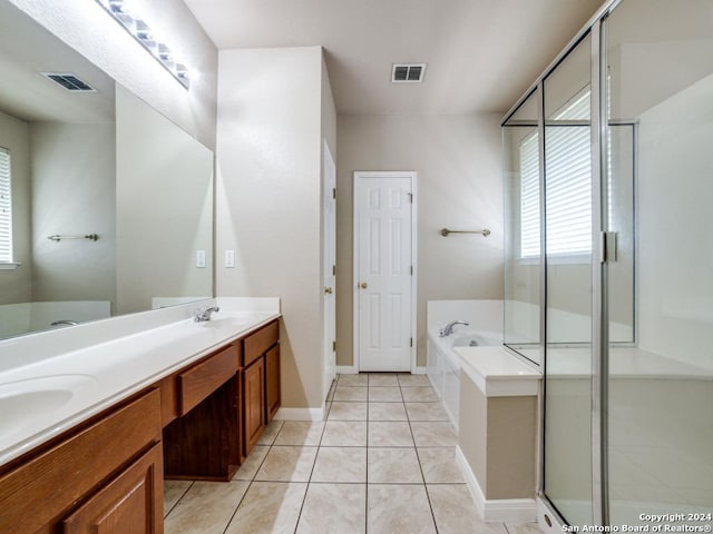
[[[426,303],[502,298],[500,116],[340,116],[336,161],[338,365],[353,362],[353,172],[418,174],[418,365]],[[489,228],[443,238],[441,228]]]

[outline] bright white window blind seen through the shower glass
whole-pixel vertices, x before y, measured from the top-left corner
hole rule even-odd
[[[592,253],[592,141],[589,89],[567,102],[546,126],[547,255]],[[539,256],[539,154],[533,134],[520,145],[520,256]]]

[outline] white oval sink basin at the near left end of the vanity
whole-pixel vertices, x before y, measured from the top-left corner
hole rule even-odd
[[[62,408],[95,383],[88,375],[55,375],[0,384],[0,434],[19,431],[35,416]]]

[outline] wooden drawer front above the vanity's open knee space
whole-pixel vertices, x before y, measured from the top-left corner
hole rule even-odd
[[[221,350],[178,375],[179,414],[186,415],[201,400],[229,380],[237,373],[236,345]]]

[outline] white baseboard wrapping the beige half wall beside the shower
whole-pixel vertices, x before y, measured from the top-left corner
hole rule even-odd
[[[466,484],[476,503],[476,508],[484,521],[525,523],[537,520],[537,505],[534,498],[486,500],[468,459],[466,459],[463,452],[460,449],[460,445],[456,447],[456,461],[463,478],[466,478]]]

